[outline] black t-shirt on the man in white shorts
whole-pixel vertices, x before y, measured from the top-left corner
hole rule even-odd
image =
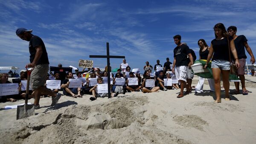
[[[187,45],[177,46],[174,50],[174,57],[176,57],[176,67],[188,66],[187,55],[190,54],[189,47]]]

